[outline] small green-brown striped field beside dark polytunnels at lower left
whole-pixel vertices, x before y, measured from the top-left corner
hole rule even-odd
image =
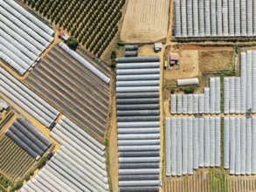
[[[37,162],[6,135],[0,141],[0,154],[0,173],[13,181],[24,176]]]

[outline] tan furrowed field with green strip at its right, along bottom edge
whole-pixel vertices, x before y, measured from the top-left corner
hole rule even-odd
[[[164,182],[165,192],[220,192],[226,191],[225,172],[220,170],[197,170],[194,175],[167,177]]]

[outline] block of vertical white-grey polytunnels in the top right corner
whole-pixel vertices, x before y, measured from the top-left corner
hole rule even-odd
[[[253,0],[175,0],[176,38],[253,37]]]

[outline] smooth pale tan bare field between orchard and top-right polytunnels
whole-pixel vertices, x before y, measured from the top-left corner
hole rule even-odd
[[[166,38],[170,1],[129,0],[121,27],[126,43],[152,43]]]

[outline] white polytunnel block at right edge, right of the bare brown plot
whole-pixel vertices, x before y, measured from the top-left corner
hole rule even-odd
[[[240,54],[240,77],[224,78],[224,113],[256,113],[256,51]]]

